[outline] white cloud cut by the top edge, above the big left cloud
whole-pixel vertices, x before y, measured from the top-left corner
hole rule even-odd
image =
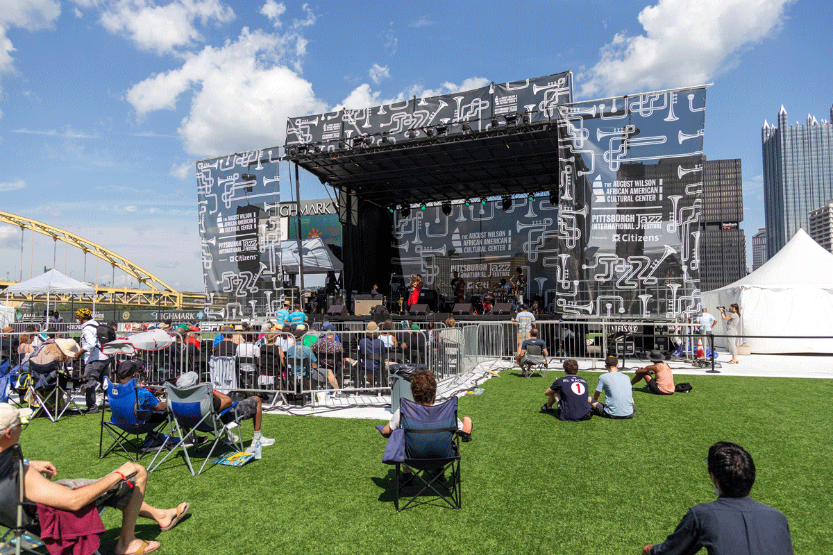
[[[209,21],[227,23],[235,18],[231,7],[218,0],[178,0],[157,6],[152,0],[120,0],[102,12],[102,27],[126,35],[138,47],[164,54],[202,42],[194,27]]]

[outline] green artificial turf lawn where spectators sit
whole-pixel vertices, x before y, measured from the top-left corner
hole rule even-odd
[[[595,389],[599,374],[581,374]],[[263,431],[277,443],[261,461],[194,478],[177,455],[152,473],[147,502],[189,501],[192,515],[167,533],[140,520],[137,536],[157,539],[160,553],[640,553],[714,499],[704,459],[727,440],[752,454],[752,497],[786,514],[796,553],[833,553],[833,380],[678,376],[690,394],[636,389],[632,420],[565,423],[538,410],[559,375],[505,371],[460,399],[474,421],[461,448],[461,511],[440,502],[394,511],[379,421],[267,414]],[[23,452],[52,460],[59,477],[97,477],[124,460],[97,458],[99,422],[36,419]],[[243,430],[250,439],[252,425]],[[120,513],[104,523],[107,553]]]

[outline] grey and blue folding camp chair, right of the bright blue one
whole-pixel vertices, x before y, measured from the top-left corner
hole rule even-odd
[[[176,435],[177,438],[182,439],[179,439],[176,444],[172,444],[171,450],[157,463],[156,459],[159,456],[159,453],[162,453],[162,450],[164,450],[160,449],[159,453],[153,457],[153,460],[148,465],[147,472],[151,472],[152,470],[159,468],[159,466],[164,463],[165,460],[177,450],[177,448],[182,448],[182,453],[185,455],[185,462],[188,465],[188,470],[191,471],[191,475],[199,476],[202,474],[202,470],[206,468],[206,464],[211,459],[212,453],[214,453],[214,448],[217,447],[220,440],[225,437],[227,426],[231,424],[240,424],[241,418],[237,414],[237,401],[235,401],[231,407],[218,414],[214,410],[212,384],[196,384],[191,387],[177,388],[176,385],[167,383],[165,384],[165,394],[167,395],[168,421],[171,423],[171,429],[174,430],[172,431],[172,435]],[[214,438],[211,449],[209,449],[206,459],[203,461],[202,467],[200,467],[200,471],[198,473],[194,473],[194,468],[191,464],[191,457],[188,456],[187,448],[188,444],[194,443],[193,440],[195,432],[211,434]],[[168,436],[165,439],[165,443],[162,444],[162,448],[167,447],[174,440],[176,440],[176,438]],[[237,442],[239,442],[239,450],[243,451],[242,439],[238,437]],[[207,442],[202,445],[207,445]],[[237,447],[238,445],[236,443],[235,448]],[[199,449],[201,446],[196,446],[194,448]]]

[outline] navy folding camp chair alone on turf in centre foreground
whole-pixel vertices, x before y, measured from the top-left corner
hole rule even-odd
[[[457,435],[457,398],[432,407],[399,399],[400,426],[405,431],[405,460],[397,463],[397,512],[430,490],[448,503],[461,508],[460,442]],[[399,508],[402,467],[408,468],[411,481],[419,491]],[[451,469],[450,484],[443,483],[446,470]],[[420,474],[420,471],[423,471]]]

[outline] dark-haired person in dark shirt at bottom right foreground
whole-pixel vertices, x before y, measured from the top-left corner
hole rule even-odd
[[[688,509],[666,541],[648,544],[646,555],[689,555],[706,548],[709,555],[791,555],[792,538],[786,516],[751,497],[755,483],[752,456],[738,444],[719,441],[706,458],[717,499]]]

